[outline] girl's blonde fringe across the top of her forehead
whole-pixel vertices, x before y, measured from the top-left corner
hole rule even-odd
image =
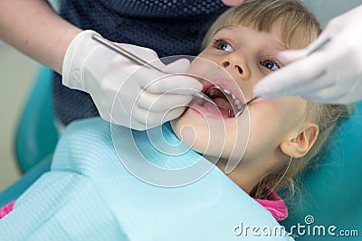
[[[203,46],[224,26],[252,27],[259,32],[270,33],[272,26],[282,20],[282,41],[287,49],[300,49],[313,42],[321,32],[319,22],[297,0],[247,0],[243,5],[230,8],[222,14],[206,32]]]

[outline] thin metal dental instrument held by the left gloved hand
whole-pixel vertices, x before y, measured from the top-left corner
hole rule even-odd
[[[101,37],[100,35],[98,35],[98,34],[93,33],[93,34],[91,35],[91,37],[92,37],[93,40],[95,40],[95,41],[97,41],[97,42],[100,42],[100,43],[103,44],[104,46],[110,48],[112,51],[116,51],[116,52],[120,53],[120,54],[123,55],[124,57],[128,58],[129,60],[132,60],[132,61],[138,63],[139,65],[145,65],[145,66],[147,66],[149,69],[153,69],[153,70],[157,70],[157,71],[160,71],[160,72],[162,72],[162,73],[165,73],[165,74],[169,74],[169,73],[167,73],[167,72],[165,72],[165,71],[163,71],[163,70],[158,69],[156,66],[148,63],[147,61],[140,59],[138,56],[134,55],[133,53],[131,53],[131,52],[129,52],[129,51],[126,51],[125,49],[119,47],[119,45],[117,45],[117,44],[115,44],[115,43],[113,43],[113,42],[110,42],[110,41],[108,41],[107,39],[102,38],[102,37]],[[224,93],[224,91],[222,91],[222,92]],[[203,99],[203,100],[205,100],[205,101],[213,104],[215,107],[226,108],[227,111],[228,111],[228,116],[230,116],[231,110],[230,110],[229,107],[223,107],[223,106],[217,105],[216,103],[214,103],[213,100],[211,100],[209,97],[203,95],[203,94],[200,93],[200,92],[195,92],[195,93],[193,94],[193,96],[194,96],[194,97],[201,98],[201,99]]]

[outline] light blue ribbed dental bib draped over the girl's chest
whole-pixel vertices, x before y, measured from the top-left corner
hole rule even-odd
[[[172,130],[162,129],[176,144]],[[167,155],[155,148],[157,138],[151,143],[146,132],[125,127],[117,127],[125,138],[113,144],[113,133],[99,117],[71,124],[51,171],[0,220],[0,240],[292,240],[266,209],[198,153]],[[135,143],[154,166],[179,170],[197,161],[207,171],[185,185],[149,183],[119,162],[138,162]]]

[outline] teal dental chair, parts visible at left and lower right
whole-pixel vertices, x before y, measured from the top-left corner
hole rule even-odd
[[[0,207],[17,199],[44,171],[49,170],[58,140],[53,122],[51,84],[52,71],[43,68],[16,134],[15,152],[24,177],[0,193]],[[354,241],[362,236],[362,191],[359,188],[362,183],[362,155],[359,153],[362,145],[362,102],[357,104],[354,115],[340,124],[333,139],[332,148],[322,154],[319,168],[304,174],[302,181],[307,189],[303,191],[301,201],[292,203],[290,217],[282,222],[287,231],[295,226],[293,234],[298,241]],[[332,227],[328,230],[331,226],[336,229]],[[319,235],[322,227],[325,228],[325,236],[323,233]],[[328,231],[336,236],[330,236]],[[339,231],[349,231],[349,235],[353,232],[355,236],[340,236]]]

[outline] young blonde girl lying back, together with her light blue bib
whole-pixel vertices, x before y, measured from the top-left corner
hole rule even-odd
[[[277,57],[279,51],[306,47],[319,32],[317,20],[297,0],[250,0],[221,15],[206,35],[205,49],[192,62],[189,74],[200,79],[203,92],[216,104],[232,110],[225,112],[223,107],[195,100],[171,125],[184,144],[210,162],[217,162],[230,179],[219,169],[213,169],[183,187],[162,189],[149,185],[150,181],[129,175],[125,162],[142,164],[139,159],[148,156],[149,162],[168,169],[175,167],[175,162],[193,163],[199,155],[190,151],[176,159],[172,154],[157,152],[154,143],[148,143],[145,132],[133,132],[129,137],[124,127],[112,132],[112,143],[108,125],[85,123],[86,127],[82,127],[79,123],[63,135],[52,171],[16,201],[14,212],[3,219],[3,229],[0,222],[0,230],[10,233],[9,224],[14,220],[24,223],[24,215],[35,224],[27,224],[25,231],[17,233],[26,236],[29,230],[36,230],[32,233],[36,234],[34,237],[49,235],[53,228],[59,236],[77,233],[74,229],[78,227],[66,227],[65,217],[77,220],[74,223],[88,220],[89,226],[81,223],[85,227],[80,228],[89,232],[90,237],[94,235],[90,229],[98,226],[117,236],[105,219],[112,225],[116,222],[119,229],[114,230],[122,230],[129,239],[139,237],[139,232],[151,226],[148,222],[159,224],[146,232],[156,240],[165,238],[163,232],[172,234],[180,230],[179,226],[186,226],[189,232],[177,236],[179,240],[191,240],[191,234],[196,233],[198,240],[208,239],[200,235],[205,235],[206,230],[216,240],[226,240],[230,235],[228,228],[233,228],[229,227],[230,221],[275,225],[259,208],[265,207],[278,220],[287,217],[287,209],[275,192],[293,183],[292,178],[319,152],[342,107],[314,104],[300,97],[258,98],[241,116],[235,117],[235,112],[241,103],[252,98],[252,87],[263,76],[282,68]],[[174,140],[173,133],[167,134]],[[133,142],[142,147],[138,150],[142,157],[133,152],[134,146],[129,144]],[[126,168],[118,162],[116,152]],[[207,165],[204,159],[200,160]],[[152,172],[152,176],[162,179],[160,173]],[[262,206],[255,206],[244,193]],[[36,213],[29,214],[29,210]],[[84,237],[84,232],[77,235]],[[139,240],[145,239],[141,236]],[[277,238],[271,236],[271,240]]]

